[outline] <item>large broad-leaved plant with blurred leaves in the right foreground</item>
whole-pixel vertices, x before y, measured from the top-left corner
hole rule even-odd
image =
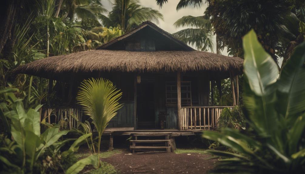
[[[253,132],[226,128],[204,131],[234,153],[209,150],[220,157],[215,173],[305,172],[305,43],[279,74],[278,67],[252,30],[243,37],[245,117]]]

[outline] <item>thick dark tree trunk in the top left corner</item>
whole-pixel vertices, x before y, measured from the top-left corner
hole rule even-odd
[[[5,4],[6,3],[6,4]],[[12,35],[12,27],[15,22],[15,15],[16,15],[16,9],[17,4],[15,0],[12,1],[4,1],[4,9],[5,11],[0,12],[1,13],[1,26],[0,26],[0,53],[2,53],[2,50],[4,48],[4,45],[6,41],[11,37]]]

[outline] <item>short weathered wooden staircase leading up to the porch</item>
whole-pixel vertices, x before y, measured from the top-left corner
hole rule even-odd
[[[134,134],[133,140],[130,140],[130,150],[135,151],[155,151],[171,152],[170,134]]]

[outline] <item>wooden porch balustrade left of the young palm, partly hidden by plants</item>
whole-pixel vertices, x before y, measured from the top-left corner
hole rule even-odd
[[[75,120],[71,115],[74,115],[78,120],[82,120],[84,115],[81,108],[48,108],[44,110],[43,119],[49,124],[61,123],[65,121],[67,123],[67,129],[72,129],[72,127],[77,128],[77,120]]]

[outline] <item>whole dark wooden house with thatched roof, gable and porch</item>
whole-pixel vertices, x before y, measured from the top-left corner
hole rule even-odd
[[[120,102],[124,107],[110,121],[109,132],[158,131],[161,127],[162,132],[190,132],[217,124],[225,106],[210,106],[210,84],[231,78],[234,91],[242,64],[238,57],[194,50],[145,22],[95,50],[47,57],[20,66],[14,73],[50,79],[49,90],[57,90],[62,103],[48,107],[44,116],[49,121],[67,116],[69,127],[76,126],[69,113],[82,116],[75,104],[77,87],[85,78],[102,77],[123,92]],[[233,92],[233,105],[237,99]],[[165,119],[163,125],[160,118]]]

